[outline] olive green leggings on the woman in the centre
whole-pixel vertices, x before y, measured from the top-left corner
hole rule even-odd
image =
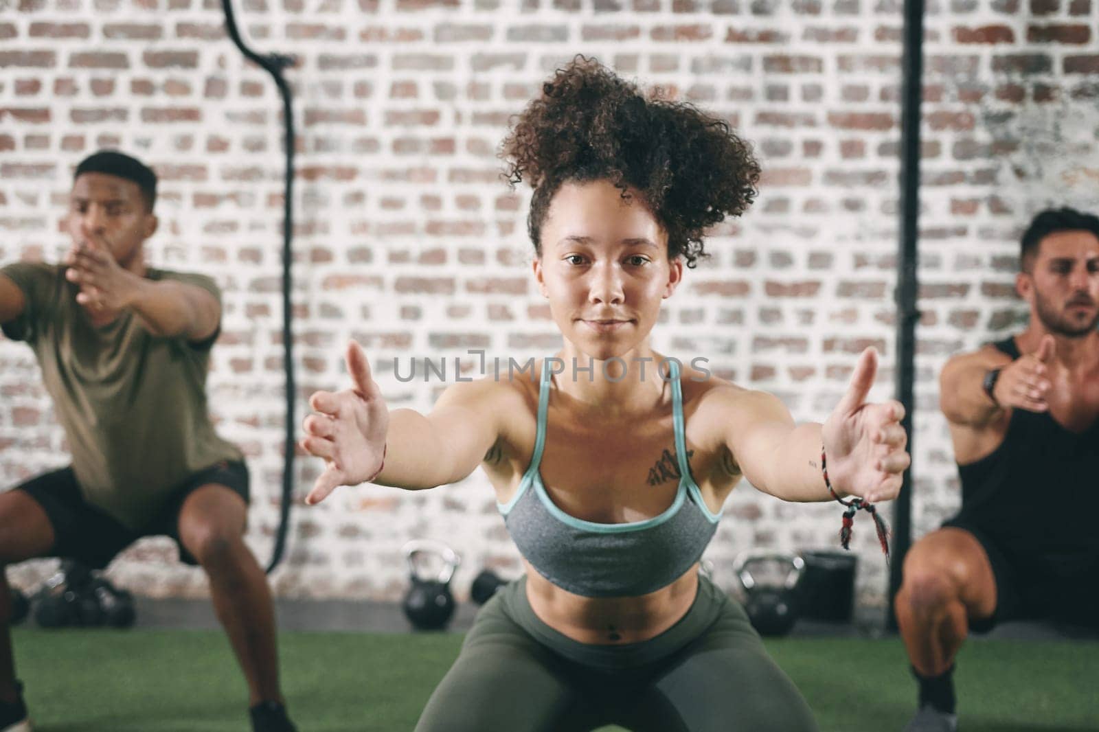
[[[703,577],[673,628],[586,645],[543,623],[525,580],[481,609],[417,732],[815,732],[809,705],[747,615]]]

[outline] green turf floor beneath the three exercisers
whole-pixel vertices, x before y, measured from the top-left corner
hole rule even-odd
[[[218,632],[21,628],[13,636],[38,732],[247,729],[244,681]],[[280,639],[284,686],[301,732],[411,730],[462,642],[456,634]],[[899,640],[767,645],[823,732],[899,731],[912,712]],[[1099,643],[972,642],[956,680],[963,732],[1099,730]]]

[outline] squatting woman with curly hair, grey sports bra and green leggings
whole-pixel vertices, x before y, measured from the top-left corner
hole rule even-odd
[[[896,496],[902,408],[865,402],[874,352],[823,425],[796,425],[775,397],[653,351],[660,302],[704,256],[706,229],[756,192],[759,166],[724,122],[580,57],[503,149],[511,180],[534,188],[533,274],[560,352],[533,375],[454,384],[423,415],[390,413],[351,344],[354,388],[313,395],[304,424],[302,446],[326,463],[310,503],[480,465],[523,556],[525,576],[481,609],[417,730],[814,730],[698,563],[742,477],[790,501]]]

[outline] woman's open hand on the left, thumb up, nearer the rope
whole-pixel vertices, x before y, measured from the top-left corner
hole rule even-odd
[[[362,346],[349,342],[345,359],[354,388],[317,391],[309,398],[314,413],[306,418],[306,436],[298,444],[324,458],[324,473],[306,497],[309,504],[324,500],[337,486],[373,480],[385,461],[389,430],[386,400],[370,378],[370,365]]]

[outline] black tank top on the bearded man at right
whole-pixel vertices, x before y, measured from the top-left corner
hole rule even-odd
[[[1014,339],[993,344],[1019,358]],[[962,511],[1035,572],[1072,576],[1099,562],[1099,419],[1083,432],[1048,412],[1014,409],[1003,442],[958,466]]]

